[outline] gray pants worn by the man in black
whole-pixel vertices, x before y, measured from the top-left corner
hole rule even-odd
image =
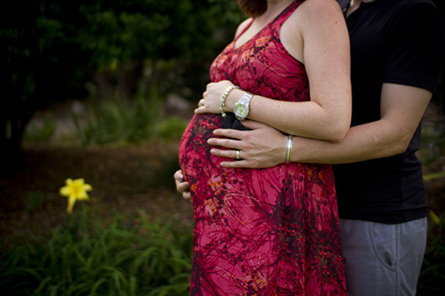
[[[400,224],[340,220],[349,296],[414,296],[426,218]]]

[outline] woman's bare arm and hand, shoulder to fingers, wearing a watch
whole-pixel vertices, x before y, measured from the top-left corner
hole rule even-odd
[[[280,37],[287,51],[304,63],[311,100],[295,103],[255,95],[247,118],[301,137],[343,140],[351,121],[350,50],[338,4],[304,2],[285,22]],[[221,95],[230,84],[208,84],[203,95],[205,104],[195,112],[220,113]],[[231,91],[224,111],[231,112],[243,93]]]

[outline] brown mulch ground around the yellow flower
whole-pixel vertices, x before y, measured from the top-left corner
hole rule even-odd
[[[0,179],[0,240],[54,228],[66,218],[67,178],[84,178],[93,191],[85,202],[104,217],[146,212],[150,220],[190,222],[190,201],[175,191],[178,143],[125,147],[25,148],[15,172]],[[77,208],[75,206],[74,211]]]

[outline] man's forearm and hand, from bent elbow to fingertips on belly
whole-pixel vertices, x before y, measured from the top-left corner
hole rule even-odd
[[[221,165],[232,168],[265,168],[286,162],[287,136],[270,126],[247,122],[252,131],[219,129],[208,143],[214,156],[233,159]],[[347,164],[394,156],[406,150],[413,132],[400,132],[390,122],[379,120],[352,127],[342,142],[293,137],[290,161],[309,164]],[[221,149],[228,148],[228,149]],[[241,161],[236,161],[236,150]]]

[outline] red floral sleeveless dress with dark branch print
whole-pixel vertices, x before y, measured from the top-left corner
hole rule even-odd
[[[281,25],[302,2],[247,44],[229,44],[214,60],[211,80],[276,100],[309,100],[304,66],[279,40]],[[195,222],[190,294],[345,295],[331,166],[224,169],[206,144],[222,122],[221,115],[194,116],[180,144]]]

